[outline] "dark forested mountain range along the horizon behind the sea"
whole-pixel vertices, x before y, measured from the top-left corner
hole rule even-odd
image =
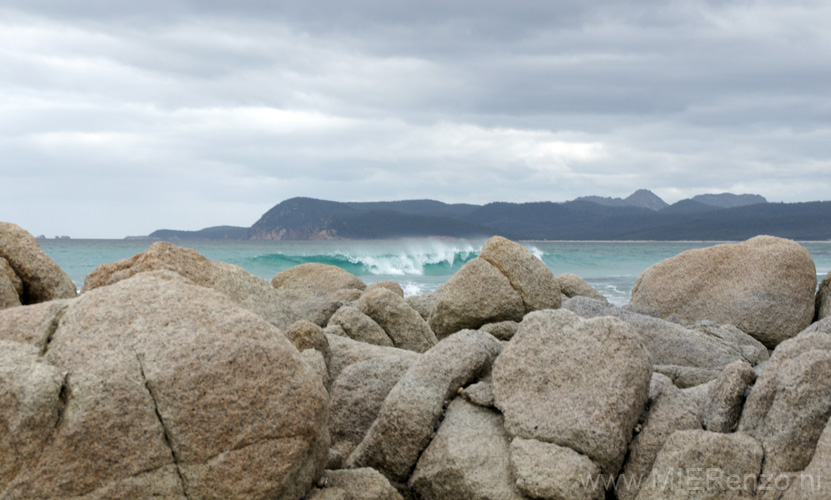
[[[756,195],[714,195],[710,203],[746,203]],[[698,198],[698,197],[696,197]],[[831,239],[831,202],[756,203],[723,208],[696,198],[666,205],[649,191],[626,199],[592,197],[565,203],[453,205],[432,200],[342,203],[285,200],[250,228],[160,230],[165,239],[381,239],[488,237],[547,240],[743,240],[758,234]],[[609,202],[609,200],[613,200]],[[713,201],[715,200],[715,201]],[[631,203],[631,204],[630,204]],[[655,207],[664,205],[660,210]]]

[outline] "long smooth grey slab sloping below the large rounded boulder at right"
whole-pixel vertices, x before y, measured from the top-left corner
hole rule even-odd
[[[633,326],[640,334],[644,347],[655,365],[678,365],[709,368],[721,371],[733,361],[750,362],[764,354],[748,359],[743,344],[725,340],[703,330],[692,330],[651,316],[633,313],[612,304],[588,297],[575,297],[562,306],[584,318],[612,316]],[[767,350],[763,348],[766,353]]]

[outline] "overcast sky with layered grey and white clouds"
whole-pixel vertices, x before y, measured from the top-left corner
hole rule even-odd
[[[831,199],[831,2],[5,0],[0,220],[121,238],[295,196]]]

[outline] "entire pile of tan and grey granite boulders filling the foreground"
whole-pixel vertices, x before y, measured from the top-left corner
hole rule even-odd
[[[500,237],[406,299],[169,243],[76,297],[11,224],[0,257],[0,499],[831,491],[831,273],[788,240],[680,254],[623,308]]]

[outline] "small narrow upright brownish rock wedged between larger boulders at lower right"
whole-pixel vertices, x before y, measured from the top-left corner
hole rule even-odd
[[[704,407],[704,428],[711,432],[733,432],[739,425],[745,392],[756,381],[756,372],[748,363],[736,361],[724,368],[710,386]]]

